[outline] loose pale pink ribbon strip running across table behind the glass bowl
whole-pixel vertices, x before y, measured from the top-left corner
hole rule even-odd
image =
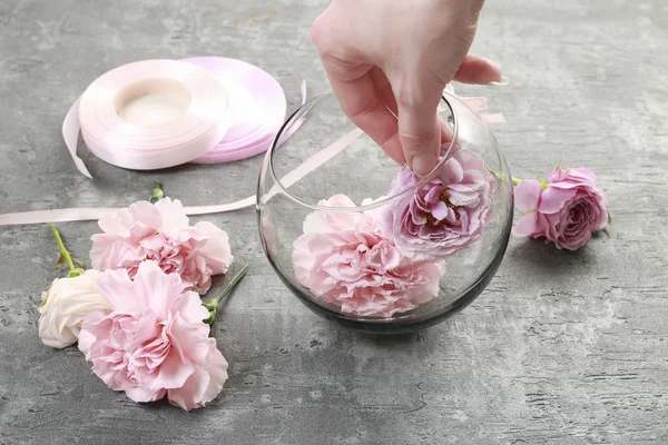
[[[451,92],[452,90],[449,90]],[[452,91],[453,92],[453,91]],[[305,91],[303,91],[305,95]],[[481,119],[487,123],[500,123],[504,122],[504,118],[500,113],[485,113],[487,99],[472,97],[460,99],[469,106],[469,108],[479,112]],[[298,123],[294,125],[294,128],[298,128]],[[343,151],[350,146],[355,139],[363,135],[362,130],[355,129],[324,149],[316,151],[313,156],[302,162],[297,168],[289,171],[281,179],[281,184],[284,187],[289,187],[299,179],[304,178],[310,172],[316,170],[320,166],[332,159],[338,152]],[[285,142],[289,135],[284,135],[278,144]],[[267,154],[269,156],[269,154]],[[268,196],[274,195],[279,190],[278,186],[274,186]],[[186,207],[186,215],[208,215],[218,214],[226,211],[234,211],[252,207],[256,204],[256,196],[249,196],[245,199],[240,199],[234,202],[215,205],[215,206],[190,206]],[[68,208],[68,209],[52,209],[52,210],[36,210],[36,211],[22,211],[14,214],[0,215],[0,226],[13,226],[13,225],[29,225],[29,224],[45,224],[45,222],[67,222],[67,221],[82,221],[82,220],[97,220],[106,215],[114,214],[120,210],[120,208]]]

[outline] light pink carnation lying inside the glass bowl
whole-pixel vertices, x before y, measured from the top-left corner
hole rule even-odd
[[[354,207],[346,196],[321,201]],[[439,294],[440,265],[403,257],[383,237],[380,216],[370,212],[314,212],[294,244],[296,279],[343,313],[390,317]]]

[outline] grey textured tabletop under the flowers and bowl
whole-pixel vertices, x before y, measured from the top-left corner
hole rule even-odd
[[[248,196],[259,158],[139,174],[87,157],[90,181],[61,119],[112,67],[195,55],[265,68],[294,106],[301,77],[326,88],[308,37],[323,3],[2,0],[0,209],[125,206],[157,177],[188,204]],[[667,443],[667,26],[662,0],[489,2],[474,49],[511,79],[482,93],[509,120],[495,134],[513,174],[591,167],[615,225],[577,254],[512,240],[488,290],[420,335],[377,339],[317,318],[271,271],[250,210],[212,218],[252,271],[215,328],[230,378],[190,414],[136,405],[77,349],[42,346],[51,235],[0,228],[0,444]],[[60,228],[87,259],[96,225]]]

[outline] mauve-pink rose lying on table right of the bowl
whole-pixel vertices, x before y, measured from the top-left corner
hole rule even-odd
[[[544,189],[540,181],[524,179],[515,187],[514,198],[515,209],[524,216],[512,234],[546,237],[558,249],[579,249],[608,224],[608,198],[588,168],[554,170]]]

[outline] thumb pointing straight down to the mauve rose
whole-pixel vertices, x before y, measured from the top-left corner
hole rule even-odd
[[[399,139],[406,162],[419,176],[429,175],[439,162],[441,126],[436,108],[440,96],[429,102],[399,103]]]

